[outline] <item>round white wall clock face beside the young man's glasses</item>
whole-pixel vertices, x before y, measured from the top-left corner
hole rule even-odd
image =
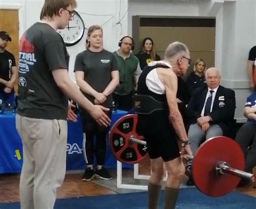
[[[71,18],[66,28],[57,31],[60,36],[62,36],[66,46],[73,46],[77,44],[84,35],[84,21],[78,12],[73,12],[75,15]]]

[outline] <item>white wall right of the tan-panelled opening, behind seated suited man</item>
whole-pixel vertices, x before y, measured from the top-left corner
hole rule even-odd
[[[221,85],[235,91],[237,120],[245,120],[242,112],[250,94],[246,65],[256,40],[255,6],[255,0],[224,2],[216,18],[215,66],[221,69]]]

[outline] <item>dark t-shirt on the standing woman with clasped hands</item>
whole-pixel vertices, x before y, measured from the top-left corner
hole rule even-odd
[[[84,80],[99,93],[102,93],[112,80],[111,72],[117,70],[117,60],[114,54],[109,51],[92,52],[85,50],[77,54],[74,72],[83,71]],[[95,97],[86,93],[84,95],[94,103]],[[107,96],[102,105],[112,108],[112,94]]]

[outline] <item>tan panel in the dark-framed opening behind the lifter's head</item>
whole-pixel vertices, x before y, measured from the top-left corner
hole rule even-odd
[[[133,19],[133,23],[137,19]],[[137,25],[136,25],[137,26]],[[215,27],[159,27],[159,26],[137,26],[133,30],[138,30],[133,38],[137,40],[134,53],[137,53],[145,37],[151,37],[154,41],[157,54],[164,59],[164,52],[168,44],[173,41],[180,41],[186,44],[190,50],[191,66],[187,70],[188,74],[193,70],[194,62],[198,58],[206,61],[207,67],[214,66],[215,57]],[[139,42],[139,47],[138,47]]]

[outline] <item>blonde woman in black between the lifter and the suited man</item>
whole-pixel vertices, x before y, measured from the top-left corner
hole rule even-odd
[[[186,85],[190,90],[192,95],[193,90],[198,87],[203,87],[205,85],[205,71],[206,71],[206,62],[199,58],[194,64],[194,71],[188,75],[186,79]]]

